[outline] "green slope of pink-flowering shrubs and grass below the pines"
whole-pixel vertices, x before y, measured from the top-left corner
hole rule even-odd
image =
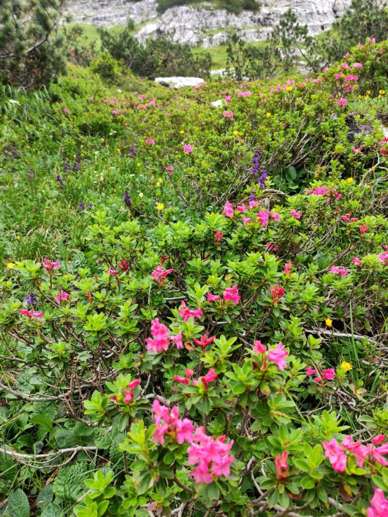
[[[386,515],[387,69],[2,88],[3,514]]]

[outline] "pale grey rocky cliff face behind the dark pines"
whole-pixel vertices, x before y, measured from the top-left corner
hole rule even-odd
[[[68,10],[75,22],[94,25],[124,25],[128,17],[143,24],[136,34],[140,41],[168,35],[174,41],[190,45],[215,47],[225,43],[235,29],[245,41],[265,39],[284,12],[290,7],[311,34],[328,29],[342,16],[351,0],[264,0],[259,12],[242,11],[238,16],[215,9],[204,2],[200,7],[172,7],[159,15],[157,0],[70,0]]]

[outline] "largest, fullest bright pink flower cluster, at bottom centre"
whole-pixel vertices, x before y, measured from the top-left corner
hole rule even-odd
[[[214,439],[203,427],[195,431],[188,454],[190,465],[197,465],[190,474],[197,483],[211,483],[213,477],[229,476],[234,461],[234,455],[230,454],[233,440],[226,444],[225,438],[223,435]]]

